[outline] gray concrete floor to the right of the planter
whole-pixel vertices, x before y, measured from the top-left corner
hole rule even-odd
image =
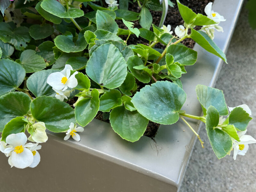
[[[223,64],[215,88],[224,92],[229,107],[247,104],[252,121],[247,133],[256,139],[256,30],[248,23],[245,3],[227,52],[228,64]],[[233,152],[220,160],[215,156],[207,138],[205,125],[199,135],[204,149],[196,140],[179,192],[255,192],[256,144],[249,144],[245,156]]]

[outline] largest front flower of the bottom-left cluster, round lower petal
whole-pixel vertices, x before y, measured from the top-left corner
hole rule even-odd
[[[23,169],[32,164],[34,160],[33,153],[27,148],[32,147],[33,143],[27,143],[25,133],[11,134],[6,137],[6,143],[11,147],[4,150],[4,153],[11,153],[8,162],[11,166]]]

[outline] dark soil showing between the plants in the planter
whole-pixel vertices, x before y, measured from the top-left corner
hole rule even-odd
[[[172,0],[172,2],[175,2],[174,0]],[[183,5],[188,6],[190,9],[192,9],[195,13],[201,13],[203,15],[205,15],[204,13],[204,7],[209,3],[209,2],[213,2],[209,1],[209,0],[180,0],[180,3]],[[92,11],[90,9],[89,6],[87,6],[87,8],[85,8],[85,11]],[[137,6],[137,3],[134,4],[129,4],[129,10],[130,11],[134,11],[134,12],[140,12],[140,8],[139,6]],[[151,11],[152,17],[153,17],[153,23],[158,26],[160,20],[161,20],[161,16],[162,16],[162,12],[156,12],[156,11]],[[119,28],[124,28],[127,29],[127,27],[124,25],[122,20],[116,20]],[[135,28],[141,28],[140,24],[139,24],[139,20],[137,21],[132,21],[134,22],[134,27]],[[168,13],[164,22],[164,25],[171,25],[171,30],[174,33],[174,29],[176,28],[176,26],[178,25],[183,25],[184,21],[182,20],[181,16],[180,16],[180,12],[178,10],[178,6],[177,4],[174,5],[174,7],[170,7],[168,8]],[[200,29],[200,26],[196,26],[196,30]],[[153,31],[152,26],[150,28],[151,31]],[[120,36],[122,39],[126,40],[127,35],[122,35]],[[193,48],[195,45],[195,42],[192,39],[185,39],[184,41],[181,42],[182,44],[186,45],[189,48]],[[129,40],[127,42],[127,44],[145,44],[148,45],[148,41],[146,39],[143,39],[141,37],[137,38],[135,35],[131,35],[129,37]],[[161,43],[156,44],[155,48],[160,48],[160,49],[164,49],[165,46]],[[143,86],[142,86],[143,87]],[[142,88],[140,87],[140,89]],[[68,103],[72,103],[72,102],[68,102]],[[101,121],[107,122],[109,123],[109,119],[104,119],[104,117],[106,117],[108,115],[104,115],[103,112],[99,111],[98,114],[96,115],[96,119],[99,119]],[[149,121],[148,123],[148,127],[147,130],[145,131],[144,135],[150,138],[154,138],[155,135],[157,134],[157,129],[159,127],[160,124],[154,123]]]

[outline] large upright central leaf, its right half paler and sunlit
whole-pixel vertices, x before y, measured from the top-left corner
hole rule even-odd
[[[100,45],[86,65],[87,75],[108,89],[119,87],[127,75],[124,57],[113,44]]]

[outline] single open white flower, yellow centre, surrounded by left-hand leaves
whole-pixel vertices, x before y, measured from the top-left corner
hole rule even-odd
[[[78,83],[75,75],[78,74],[78,72],[76,71],[70,76],[70,70],[73,70],[71,65],[65,65],[62,71],[51,73],[47,78],[47,83],[54,89],[62,91],[65,91],[68,87],[76,87]]]

